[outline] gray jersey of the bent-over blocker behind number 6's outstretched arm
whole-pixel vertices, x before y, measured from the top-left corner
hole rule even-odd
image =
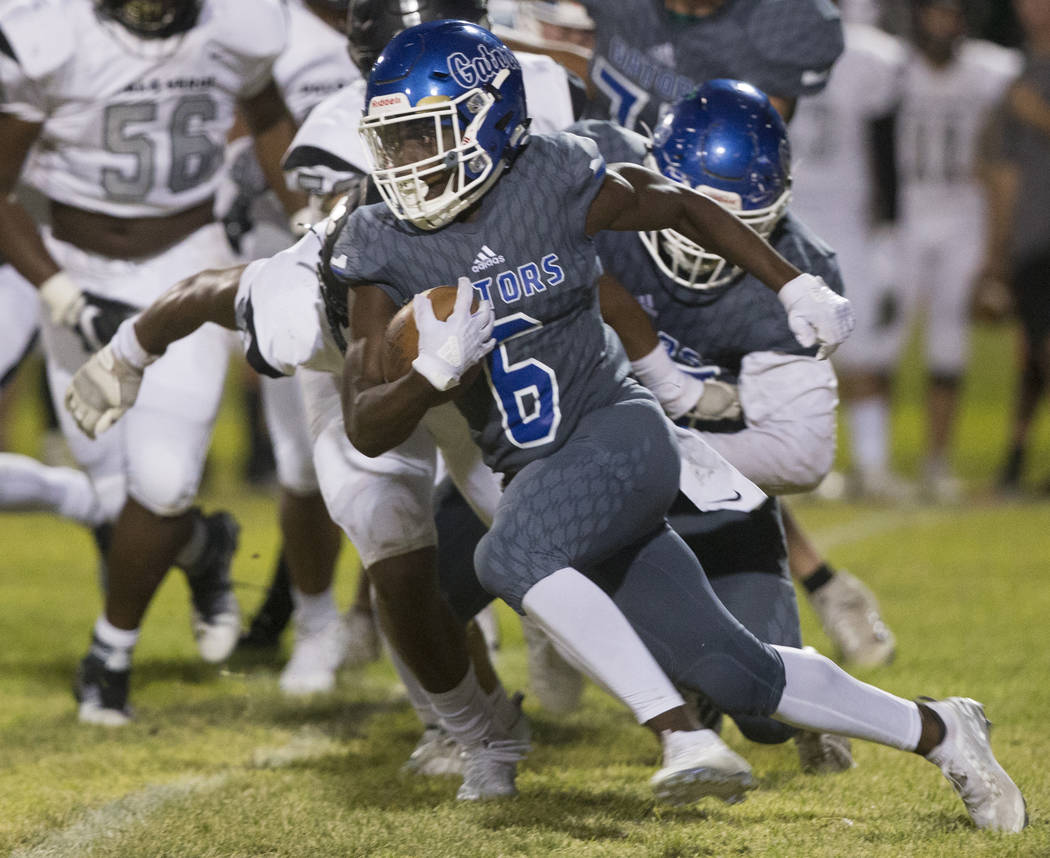
[[[593,139],[610,164],[643,163],[648,143],[640,134],[611,122],[588,121],[572,128]],[[771,239],[797,268],[842,292],[834,252],[797,218],[786,214]],[[795,339],[776,293],[750,274],[715,289],[686,289],[660,272],[637,233],[604,231],[594,244],[605,270],[638,299],[681,363],[719,367],[735,375],[749,352],[816,354]]]

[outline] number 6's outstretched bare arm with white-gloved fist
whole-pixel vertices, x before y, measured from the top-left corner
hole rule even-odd
[[[826,357],[853,330],[849,301],[803,274],[751,227],[702,193],[635,164],[612,165],[587,212],[586,231],[673,229],[772,289],[803,346]]]

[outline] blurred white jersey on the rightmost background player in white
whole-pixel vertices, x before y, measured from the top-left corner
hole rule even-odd
[[[910,54],[897,122],[903,216],[972,215],[978,137],[1021,62],[1017,51],[980,40],[964,42],[944,68]]]

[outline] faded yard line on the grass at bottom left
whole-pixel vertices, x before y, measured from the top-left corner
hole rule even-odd
[[[128,793],[88,811],[71,825],[51,832],[38,845],[16,850],[10,858],[64,858],[69,855],[88,855],[97,844],[136,826],[146,825],[149,817],[165,804],[222,789],[236,772],[248,768],[282,768],[341,749],[342,746],[338,741],[318,730],[302,730],[285,745],[256,748],[251,753],[248,763],[235,767],[231,771],[181,777],[167,783],[154,783]]]

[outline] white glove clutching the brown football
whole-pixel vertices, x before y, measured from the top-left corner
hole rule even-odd
[[[459,384],[470,367],[496,347],[492,327],[496,314],[490,301],[483,300],[470,312],[474,287],[468,277],[456,284],[456,304],[444,321],[434,315],[429,295],[418,294],[412,312],[419,332],[419,355],[413,368],[437,390],[447,391]]]

